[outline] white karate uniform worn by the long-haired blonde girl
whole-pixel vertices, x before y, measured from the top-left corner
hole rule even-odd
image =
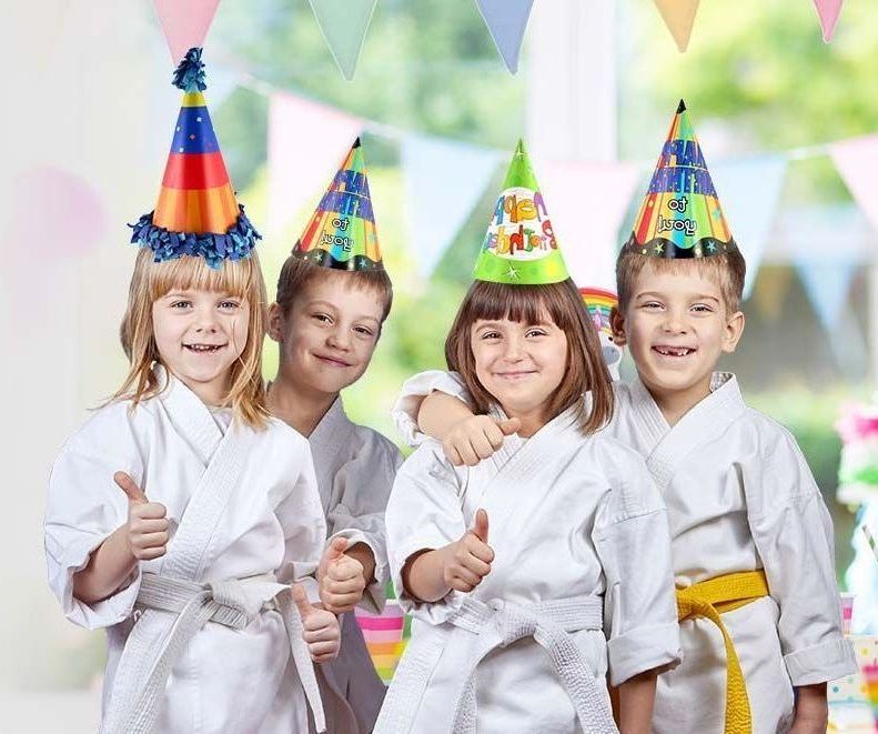
[[[307,442],[276,420],[256,432],[229,412],[214,415],[175,379],[130,408],[125,401],[100,409],[64,444],[46,517],[49,583],[64,614],[107,631],[102,731],[305,731],[303,681],[312,695],[316,681],[283,584],[313,574],[326,536]],[[141,562],[124,587],[85,604],[73,597],[73,574],[128,519],[117,471],[166,507],[171,540],[168,553]],[[202,586],[202,606],[213,615],[169,658],[170,676],[166,684],[160,677],[152,707],[158,721],[139,730],[125,723],[129,706],[185,616],[142,609],[160,582],[213,584]],[[316,599],[314,580],[305,586]],[[293,641],[287,627],[295,624]]]

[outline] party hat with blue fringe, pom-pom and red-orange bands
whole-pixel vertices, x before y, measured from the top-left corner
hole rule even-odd
[[[174,71],[183,90],[171,152],[154,211],[132,224],[131,242],[150,248],[155,262],[201,257],[211,268],[246,258],[260,233],[238,203],[202,93],[201,49],[186,52]]]

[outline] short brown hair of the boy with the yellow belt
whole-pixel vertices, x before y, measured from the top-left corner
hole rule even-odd
[[[723,302],[729,313],[740,311],[747,263],[737,248],[708,258],[692,259],[653,258],[627,247],[623,248],[616,260],[616,291],[619,296],[619,311],[627,308],[634,296],[634,282],[647,265],[658,273],[680,273],[687,268],[695,268],[700,275],[719,285]]]

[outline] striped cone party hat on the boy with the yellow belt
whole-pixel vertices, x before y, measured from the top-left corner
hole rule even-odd
[[[655,258],[707,258],[737,248],[683,100],[625,247]]]

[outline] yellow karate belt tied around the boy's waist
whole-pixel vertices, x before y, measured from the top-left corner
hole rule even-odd
[[[677,589],[677,619],[703,616],[710,620],[723,633],[726,645],[726,726],[725,734],[750,734],[753,718],[747,686],[740,671],[735,643],[719,616],[768,594],[764,571],[729,573],[708,579],[687,589]]]

